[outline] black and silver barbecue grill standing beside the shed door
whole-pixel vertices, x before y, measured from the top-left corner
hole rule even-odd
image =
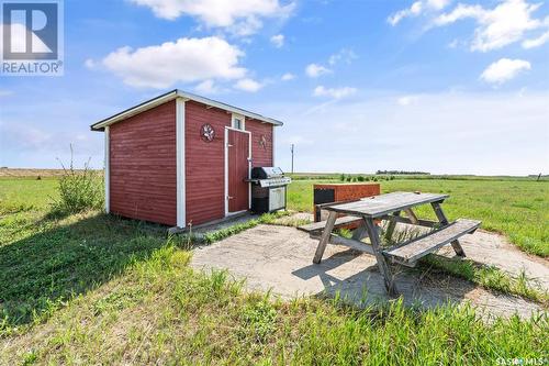
[[[292,181],[278,167],[251,169],[251,211],[256,213],[285,209],[287,186]]]

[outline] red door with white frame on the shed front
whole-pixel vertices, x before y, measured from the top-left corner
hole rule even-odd
[[[228,163],[228,212],[248,209],[249,184],[249,134],[243,131],[227,130]]]

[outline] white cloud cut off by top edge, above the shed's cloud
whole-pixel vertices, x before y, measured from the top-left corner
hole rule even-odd
[[[153,10],[156,16],[175,20],[181,15],[198,18],[209,27],[231,27],[231,32],[249,35],[261,27],[260,18],[285,18],[294,3],[281,5],[278,0],[131,0]],[[240,25],[242,24],[242,25]],[[242,26],[245,30],[238,31]]]

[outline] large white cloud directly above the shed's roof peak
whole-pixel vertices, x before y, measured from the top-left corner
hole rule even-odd
[[[246,75],[238,62],[244,53],[216,36],[179,38],[137,49],[122,47],[102,64],[133,87],[168,88],[206,79],[237,79]]]

